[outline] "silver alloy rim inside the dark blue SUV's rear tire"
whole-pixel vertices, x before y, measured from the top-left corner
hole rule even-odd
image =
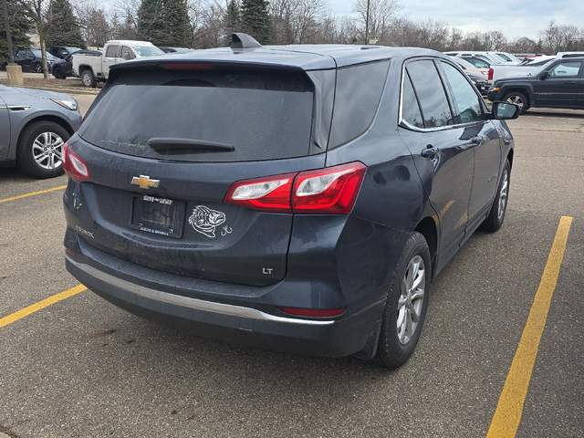
[[[426,270],[422,257],[415,255],[401,280],[401,294],[398,300],[398,339],[406,345],[416,331],[422,314],[423,294],[426,286]]]

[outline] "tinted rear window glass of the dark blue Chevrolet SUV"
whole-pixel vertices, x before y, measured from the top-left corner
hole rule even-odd
[[[190,162],[235,162],[308,155],[312,83],[270,72],[122,73],[91,110],[79,135],[125,154]],[[147,141],[183,139],[233,146],[154,151]]]

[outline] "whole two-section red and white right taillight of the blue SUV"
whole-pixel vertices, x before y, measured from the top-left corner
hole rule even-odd
[[[366,170],[363,163],[351,162],[318,171],[239,181],[229,188],[224,203],[262,212],[349,214]]]

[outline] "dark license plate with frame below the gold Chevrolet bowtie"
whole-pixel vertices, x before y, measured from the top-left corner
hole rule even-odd
[[[133,198],[130,227],[155,235],[183,237],[185,203],[144,194]]]

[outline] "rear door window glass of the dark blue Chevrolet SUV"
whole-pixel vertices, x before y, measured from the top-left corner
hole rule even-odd
[[[420,101],[424,126],[438,128],[452,125],[453,115],[433,61],[424,59],[410,62],[406,70],[412,78],[413,89]]]

